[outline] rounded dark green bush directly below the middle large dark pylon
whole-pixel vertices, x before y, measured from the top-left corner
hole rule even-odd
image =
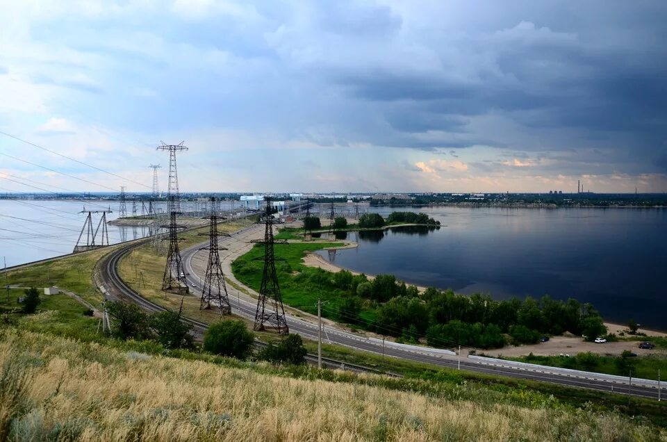
[[[244,359],[255,336],[239,320],[216,322],[204,334],[204,350],[222,356]]]

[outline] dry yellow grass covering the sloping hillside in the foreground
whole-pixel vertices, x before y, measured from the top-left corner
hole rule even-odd
[[[616,414],[445,401],[42,334],[0,334],[0,365],[10,360],[23,361],[31,379],[18,414],[12,401],[0,403],[0,419],[15,414],[8,430],[17,440],[667,440]]]

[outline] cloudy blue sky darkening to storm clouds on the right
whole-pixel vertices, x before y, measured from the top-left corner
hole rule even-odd
[[[181,192],[667,192],[665,23],[642,0],[0,0],[0,192],[142,192],[150,164],[165,190],[181,141]]]

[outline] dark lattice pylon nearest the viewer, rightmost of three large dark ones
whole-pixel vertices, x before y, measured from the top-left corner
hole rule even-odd
[[[257,298],[254,329],[256,331],[275,330],[279,334],[286,334],[289,333],[290,329],[287,327],[285,308],[280,295],[273,246],[275,244],[287,244],[287,241],[273,238],[274,220],[271,214],[271,202],[268,198],[266,213],[263,218],[263,224],[265,224],[264,239],[252,241],[264,245],[264,271],[262,284],[259,288],[259,297]]]

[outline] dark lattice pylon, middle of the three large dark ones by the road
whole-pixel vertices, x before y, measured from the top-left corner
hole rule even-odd
[[[208,234],[199,234],[208,236],[208,265],[206,266],[206,276],[204,277],[204,287],[201,289],[201,302],[199,309],[219,309],[220,314],[231,313],[229,304],[229,295],[227,295],[227,285],[224,284],[224,274],[220,264],[219,250],[227,250],[217,245],[219,236],[229,236],[229,234],[217,231],[217,207],[215,206],[215,197],[211,197],[211,215],[205,216],[209,220]]]

